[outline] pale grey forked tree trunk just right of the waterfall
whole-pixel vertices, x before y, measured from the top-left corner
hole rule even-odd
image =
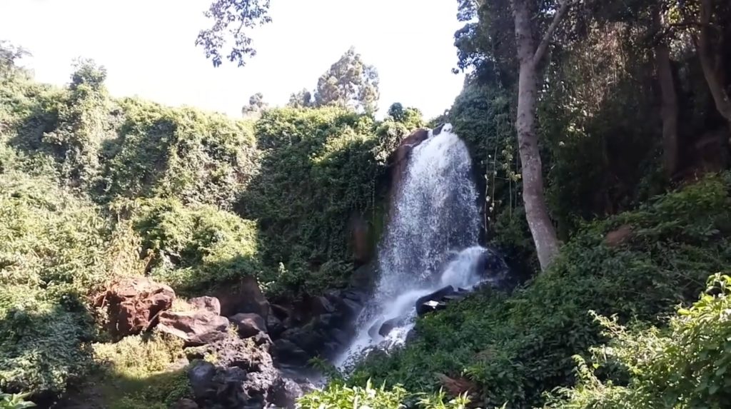
[[[538,150],[538,136],[535,130],[536,100],[538,96],[539,62],[548,49],[548,42],[556,31],[558,23],[566,14],[568,1],[564,0],[556,10],[553,22],[545,36],[535,47],[531,28],[531,12],[527,0],[512,0],[515,18],[515,43],[518,48],[520,72],[518,76],[518,130],[520,162],[523,167],[523,203],[526,219],[536,245],[541,270],[545,270],[558,253],[556,229],[551,223],[543,189],[541,157]]]

